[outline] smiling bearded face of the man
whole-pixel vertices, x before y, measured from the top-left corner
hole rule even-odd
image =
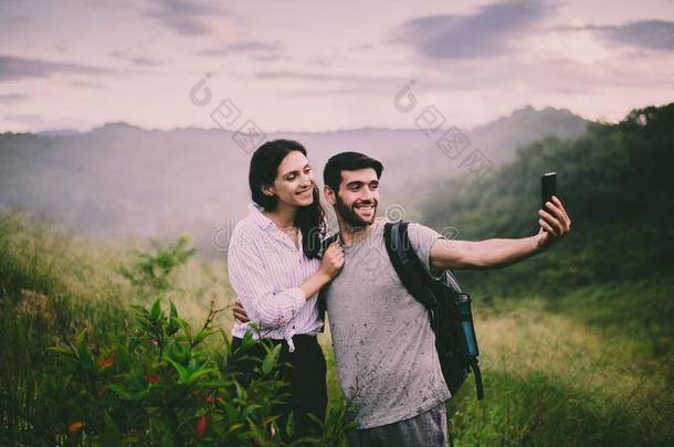
[[[333,204],[337,214],[350,226],[371,225],[379,204],[377,172],[372,168],[341,171],[339,191]]]

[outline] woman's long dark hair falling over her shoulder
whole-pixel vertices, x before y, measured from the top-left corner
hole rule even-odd
[[[263,185],[274,184],[278,175],[278,166],[291,151],[296,150],[306,157],[306,149],[297,141],[274,140],[259,147],[251,158],[249,170],[249,185],[255,203],[266,211],[274,211],[278,205],[276,195],[266,195],[262,192]],[[327,233],[325,211],[320,205],[318,187],[314,183],[314,202],[308,206],[297,209],[295,225],[302,232],[302,249],[308,258],[318,258],[320,242]]]

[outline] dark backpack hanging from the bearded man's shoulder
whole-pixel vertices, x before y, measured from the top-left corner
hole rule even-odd
[[[461,291],[451,269],[440,279],[431,277],[408,237],[409,222],[388,222],[383,238],[389,258],[400,280],[429,311],[435,332],[435,349],[442,375],[455,395],[470,371],[475,375],[477,400],[484,397],[482,374],[477,365],[477,338],[473,326],[471,297]]]

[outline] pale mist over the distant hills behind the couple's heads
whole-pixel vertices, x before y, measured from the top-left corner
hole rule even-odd
[[[456,159],[436,146],[450,127],[432,134],[419,128],[277,132],[266,139],[305,145],[319,184],[323,166],[336,152],[361,151],[381,160],[381,206],[401,203],[414,217],[415,198],[431,179],[465,172],[465,153],[478,149],[497,166],[519,146],[549,135],[573,138],[587,124],[568,110],[525,107],[461,129],[468,142]],[[6,132],[0,135],[0,211],[27,209],[95,237],[189,234],[202,254],[221,256],[228,231],[246,214],[250,200],[250,153],[232,136],[220,129],[144,130],[125,123],[88,132]],[[214,236],[220,249],[213,247]]]

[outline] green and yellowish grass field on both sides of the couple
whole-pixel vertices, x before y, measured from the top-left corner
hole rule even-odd
[[[39,377],[57,365],[48,348],[85,328],[95,345],[129,324],[130,305],[149,305],[117,273],[130,260],[125,247],[0,216],[0,444],[71,445],[41,426]],[[190,258],[172,280],[169,297],[193,326],[211,301],[233,300],[223,260]],[[475,400],[472,380],[451,400],[456,445],[674,445],[673,296],[672,278],[590,285],[555,299],[533,292],[487,304],[474,292],[485,400]],[[228,332],[230,313],[218,320]],[[345,445],[329,334],[320,342],[336,409],[325,443]],[[222,350],[221,340],[208,349]]]

